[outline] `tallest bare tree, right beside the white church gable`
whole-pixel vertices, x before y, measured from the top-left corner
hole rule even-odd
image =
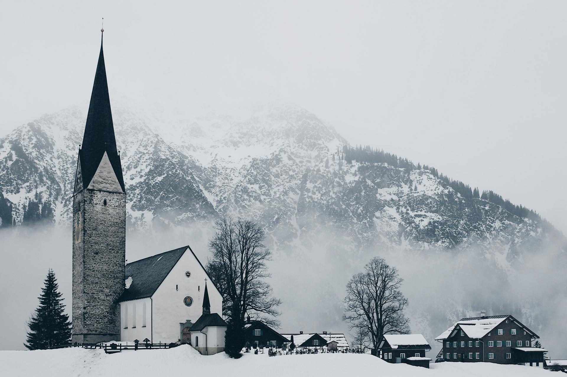
[[[266,262],[271,253],[264,245],[264,231],[253,221],[223,218],[217,222],[217,233],[209,242],[212,257],[207,270],[223,296],[223,314],[228,317],[227,348],[236,354],[245,344],[244,317],[250,315],[277,325],[273,317],[280,313],[281,301],[272,296]]]

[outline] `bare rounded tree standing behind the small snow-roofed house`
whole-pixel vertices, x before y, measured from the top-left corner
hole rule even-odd
[[[409,333],[409,319],[404,315],[408,299],[400,291],[403,281],[395,267],[374,257],[346,285],[343,320],[350,328],[365,329],[374,349],[384,334]]]

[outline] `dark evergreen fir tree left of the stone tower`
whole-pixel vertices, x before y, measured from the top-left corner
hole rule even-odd
[[[49,270],[41,289],[39,307],[28,322],[27,349],[49,349],[71,343],[71,323],[64,314],[59,285],[53,270]]]

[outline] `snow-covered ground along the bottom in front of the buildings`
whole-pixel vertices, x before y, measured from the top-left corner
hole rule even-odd
[[[437,363],[431,369],[389,364],[365,354],[281,355],[245,354],[238,360],[224,353],[202,356],[191,346],[174,349],[124,351],[67,348],[44,351],[0,351],[0,375],[16,376],[167,376],[231,377],[369,376],[459,377],[548,376],[549,371],[526,366],[490,363]],[[549,375],[551,376],[551,375]]]

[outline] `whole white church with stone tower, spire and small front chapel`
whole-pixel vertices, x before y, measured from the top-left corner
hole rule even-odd
[[[101,33],[104,30],[101,29]],[[187,343],[222,352],[222,296],[189,246],[126,264],[126,189],[102,35],[73,190],[73,343]]]

